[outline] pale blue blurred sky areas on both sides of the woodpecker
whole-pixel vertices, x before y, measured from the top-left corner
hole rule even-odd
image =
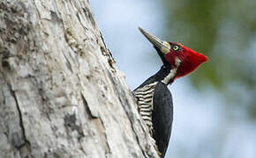
[[[102,36],[124,72],[131,90],[162,66],[152,45],[138,26],[158,36],[164,29],[164,12],[158,1],[94,0],[91,6]],[[168,40],[168,39],[167,39]],[[202,65],[203,67],[203,65]],[[200,68],[203,70],[203,68]],[[195,90],[188,76],[169,86],[174,102],[174,122],[166,157],[256,157],[256,126],[237,111],[230,115],[224,99],[206,87]]]

